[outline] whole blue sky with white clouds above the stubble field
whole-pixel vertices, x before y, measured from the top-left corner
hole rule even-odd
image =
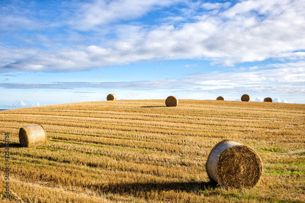
[[[0,11],[0,109],[109,93],[304,103],[303,0],[10,0]]]

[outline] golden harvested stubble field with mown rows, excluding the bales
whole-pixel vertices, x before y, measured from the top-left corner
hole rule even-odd
[[[304,202],[305,104],[179,100],[69,103],[0,111],[3,202]],[[19,129],[42,124],[44,146]],[[10,200],[4,192],[9,134]],[[224,139],[251,147],[264,170],[252,189],[210,182]]]

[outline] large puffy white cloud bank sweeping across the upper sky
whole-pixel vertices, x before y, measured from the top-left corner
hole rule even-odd
[[[211,65],[227,67],[268,59],[258,66],[268,68],[270,63],[278,60],[303,60],[305,4],[301,0],[276,3],[247,0],[231,7],[221,3],[203,3],[202,6],[197,3],[197,7],[194,7],[191,3],[185,3],[184,8],[180,9],[181,18],[177,16],[175,24],[151,25],[147,28],[144,22],[120,23],[121,20],[138,19],[150,11],[162,10],[177,2],[122,0],[121,4],[117,1],[79,3],[72,17],[63,16],[62,21],[53,23],[53,26],[62,29],[68,22],[71,28],[69,33],[59,36],[61,41],[56,36],[52,39],[56,43],[48,43],[48,37],[41,37],[39,40],[49,44],[48,49],[31,44],[19,54],[16,54],[18,46],[3,45],[0,68],[66,72],[166,58],[208,60]],[[183,9],[190,7],[195,13],[183,16]],[[221,9],[217,14],[209,12],[218,8]],[[114,11],[106,19],[104,13],[111,9]],[[174,14],[170,11],[167,13],[164,19],[172,19]],[[9,29],[12,26],[5,24],[5,18],[1,21],[2,25]],[[24,19],[20,22],[30,24]],[[111,27],[109,22],[112,23]],[[19,26],[13,27],[16,29]],[[79,30],[91,33],[88,40],[77,45],[77,49],[72,46],[73,43],[65,44],[67,40],[72,41],[70,33],[74,36]],[[108,35],[114,37],[107,38]],[[54,44],[58,45],[54,48]],[[120,54],[122,50],[124,54]],[[60,63],[60,60],[63,62]]]

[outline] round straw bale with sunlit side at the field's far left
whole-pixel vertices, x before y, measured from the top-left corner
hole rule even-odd
[[[45,145],[47,134],[41,124],[20,128],[19,142],[23,147],[34,147]]]

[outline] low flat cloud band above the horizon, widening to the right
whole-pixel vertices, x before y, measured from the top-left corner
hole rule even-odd
[[[185,78],[167,78],[158,80],[142,80],[130,82],[53,82],[36,84],[39,89],[75,89],[90,86],[105,89],[175,89],[196,92],[232,93],[236,98],[240,93],[256,95],[303,96],[305,94],[305,75],[303,68],[275,68],[259,72],[199,72]],[[0,87],[15,89],[31,89],[31,83],[0,83]],[[251,96],[250,96],[251,97]],[[232,98],[231,100],[235,100]],[[263,100],[257,97],[256,101]]]

